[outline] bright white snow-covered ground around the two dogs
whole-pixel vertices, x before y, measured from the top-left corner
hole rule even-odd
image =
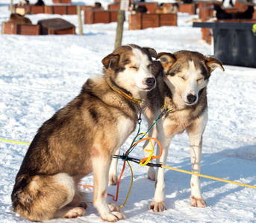
[[[104,7],[109,3],[110,0],[104,1]],[[8,0],[0,0],[0,23],[10,16],[8,4]],[[51,4],[51,0],[46,4]],[[40,19],[60,17],[78,26],[77,16],[28,17],[34,24]],[[128,30],[126,20],[122,44],[134,43],[157,52],[190,50],[211,55],[211,46],[202,41],[200,28],[192,28],[186,22],[193,17],[196,16],[179,13],[178,27],[146,30]],[[40,125],[72,100],[91,74],[102,74],[101,61],[113,51],[116,23],[83,25],[83,28],[83,36],[0,36],[0,138],[31,142]],[[208,85],[209,121],[204,135],[202,174],[256,185],[256,69],[224,67],[225,72],[219,69],[213,72]],[[146,131],[145,121],[142,131]],[[122,152],[128,149],[134,135],[123,145]],[[0,142],[1,222],[28,222],[13,213],[10,201],[14,178],[27,149],[25,145]],[[132,156],[142,158],[142,147],[137,146]],[[120,222],[256,222],[255,189],[202,178],[207,207],[191,207],[190,175],[171,170],[165,176],[168,210],[153,213],[149,204],[154,196],[154,182],[146,178],[144,167],[131,165],[134,186],[122,207],[126,219]],[[167,166],[191,169],[186,134],[172,140]],[[121,169],[119,161],[119,172]],[[130,182],[131,172],[127,167],[117,204],[125,201]],[[84,178],[83,184],[93,185],[93,175]],[[84,192],[91,201],[92,191]],[[116,187],[109,187],[109,193],[115,195]],[[89,204],[87,213],[78,219],[50,222],[102,220],[93,204]]]

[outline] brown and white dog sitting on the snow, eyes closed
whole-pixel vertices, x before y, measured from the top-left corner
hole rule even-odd
[[[104,57],[104,76],[84,83],[81,93],[43,123],[16,175],[13,210],[36,222],[85,213],[78,183],[93,172],[93,204],[103,220],[125,219],[107,201],[113,153],[137,123],[138,106],[112,88],[140,99],[155,86],[151,48],[125,45]],[[110,85],[112,88],[110,88]]]

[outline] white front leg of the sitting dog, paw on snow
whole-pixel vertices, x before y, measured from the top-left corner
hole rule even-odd
[[[120,208],[109,204],[107,201],[107,182],[112,155],[107,153],[104,155],[100,154],[100,148],[96,148],[96,146],[93,149],[96,151],[92,156],[93,205],[97,208],[99,215],[104,221],[116,222],[119,219],[125,219],[125,216],[120,213]]]

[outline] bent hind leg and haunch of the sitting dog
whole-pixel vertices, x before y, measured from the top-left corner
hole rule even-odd
[[[75,195],[75,182],[66,173],[56,175],[20,176],[16,184],[23,184],[13,193],[13,209],[26,219],[43,222],[54,217],[68,217],[58,210],[69,204]],[[81,208],[81,207],[79,207]],[[80,215],[84,214],[81,208]],[[77,211],[77,210],[76,210]]]

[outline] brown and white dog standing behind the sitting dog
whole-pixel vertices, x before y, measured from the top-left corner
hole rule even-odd
[[[163,111],[166,103],[167,109],[174,109],[157,121],[149,136],[158,138],[163,147],[163,155],[157,160],[158,164],[166,165],[168,149],[172,138],[184,131],[190,138],[190,155],[193,172],[200,172],[202,154],[202,135],[207,123],[207,83],[210,74],[215,68],[222,67],[222,62],[213,57],[203,56],[198,52],[178,51],[174,54],[159,53],[154,62],[154,75],[157,87],[148,92],[146,101],[146,119],[152,126],[156,117]],[[160,63],[163,67],[160,66]],[[144,155],[149,143],[144,145]],[[157,147],[159,154],[159,147]],[[150,209],[161,212],[166,209],[164,203],[164,169],[147,167],[148,176],[155,180],[154,201]],[[191,178],[191,204],[195,207],[206,207],[202,198],[200,178],[193,175]]]

